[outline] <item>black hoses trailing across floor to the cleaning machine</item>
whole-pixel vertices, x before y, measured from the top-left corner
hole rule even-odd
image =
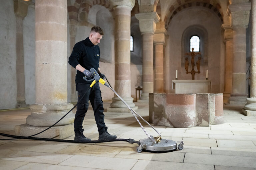
[[[106,78],[106,77],[105,77]],[[107,80],[107,78],[106,78]],[[108,80],[107,80],[108,82]],[[108,82],[109,84],[109,82]],[[109,84],[110,86],[110,84]],[[111,86],[110,86],[111,87]],[[90,89],[90,87],[86,90],[85,94],[87,93],[87,91]],[[49,138],[42,138],[42,137],[32,137],[35,135],[38,135],[46,130],[48,130],[49,128],[52,128],[53,126],[55,126],[57,123],[59,123],[65,116],[67,116],[82,100],[82,98],[85,96],[85,94],[81,97],[81,99],[77,102],[77,104],[70,110],[68,111],[68,113],[66,113],[60,120],[58,120],[55,124],[53,124],[52,126],[44,129],[41,132],[38,132],[36,134],[30,135],[30,136],[16,136],[16,135],[10,135],[10,134],[5,134],[5,133],[0,133],[0,135],[2,136],[6,136],[6,137],[13,137],[13,138],[9,138],[9,139],[1,139],[0,140],[14,140],[14,139],[32,139],[32,140],[46,140],[46,141],[57,141],[57,142],[69,142],[69,143],[104,143],[104,142],[114,142],[114,141],[124,141],[124,142],[129,142],[131,144],[133,143],[137,143],[139,144],[139,141],[136,141],[134,139],[114,139],[114,140],[90,140],[90,141],[84,141],[84,140],[64,140],[64,139],[49,139]]]

